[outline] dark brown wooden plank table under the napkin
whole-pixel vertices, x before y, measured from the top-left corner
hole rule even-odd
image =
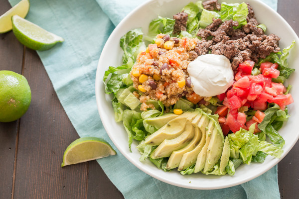
[[[0,0],[0,15],[9,8],[7,0]],[[297,34],[298,8],[298,0],[279,0],[278,12]],[[21,119],[0,123],[0,199],[122,199],[96,161],[60,167],[64,150],[79,136],[38,55],[12,32],[0,34],[0,70],[24,75],[32,92]],[[298,151],[299,142],[279,163],[281,198],[299,196]]]

